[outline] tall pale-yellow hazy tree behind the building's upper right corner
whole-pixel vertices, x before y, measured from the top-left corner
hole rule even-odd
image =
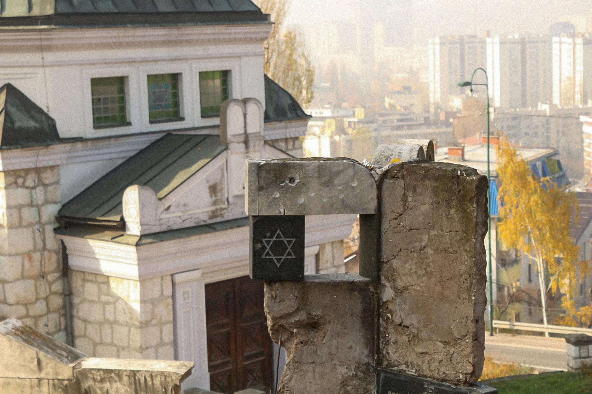
[[[286,89],[304,107],[313,101],[315,69],[294,30],[284,26],[290,0],[256,0],[261,11],[271,15],[274,27],[265,41],[265,73]]]

